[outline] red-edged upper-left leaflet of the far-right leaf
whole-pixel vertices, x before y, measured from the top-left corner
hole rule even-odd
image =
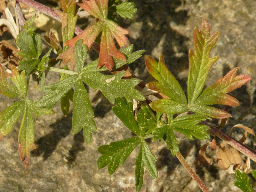
[[[151,56],[146,55],[145,63],[149,73],[158,81],[150,82],[146,86],[151,90],[165,94],[167,97],[175,101],[175,103],[180,103],[184,106],[187,105],[185,93],[183,92],[179,82],[166,67],[163,55],[160,55],[158,64]]]

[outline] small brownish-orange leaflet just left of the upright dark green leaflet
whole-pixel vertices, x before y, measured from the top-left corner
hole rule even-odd
[[[62,52],[57,59],[62,59],[60,63],[60,68],[67,65],[70,62],[71,70],[75,68],[75,47],[69,47],[67,51]]]

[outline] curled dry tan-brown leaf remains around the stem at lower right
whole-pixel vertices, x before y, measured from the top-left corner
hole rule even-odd
[[[239,140],[240,142],[244,142],[247,138],[247,133],[253,135],[255,137],[255,134],[252,129],[249,127],[246,127],[242,124],[237,124],[233,126],[230,130],[229,135],[231,136],[235,128],[241,128],[244,130],[243,137]],[[213,139],[213,141],[216,141]],[[206,148],[208,146],[211,146],[212,149],[216,149],[216,159],[210,158],[206,154]],[[247,157],[246,162],[242,160],[239,152],[228,145],[225,141],[223,141],[221,144],[212,142],[204,144],[198,154],[198,164],[204,163],[206,165],[211,165],[214,160],[217,161],[218,166],[227,171],[228,174],[233,174],[236,172],[236,169],[239,169],[240,171],[244,171],[246,174],[250,173],[251,171],[251,164],[250,159]]]

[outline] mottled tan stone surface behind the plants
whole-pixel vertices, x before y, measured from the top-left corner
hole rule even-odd
[[[40,1],[48,6],[57,7],[55,1]],[[188,49],[193,49],[192,33],[196,26],[200,28],[202,19],[206,19],[211,32],[220,31],[220,39],[212,50],[212,56],[220,59],[214,64],[206,85],[214,83],[231,68],[239,67],[239,74],[251,75],[252,81],[231,93],[241,105],[230,108],[232,118],[228,120],[224,131],[235,124],[244,124],[256,130],[256,1],[254,0],[133,0],[138,12],[134,20],[121,20],[121,26],[130,30],[129,39],[134,50],[146,49],[146,54],[158,59],[163,53],[168,68],[186,89],[188,70]],[[42,20],[42,19],[41,19]],[[93,19],[80,19],[81,28]],[[38,22],[39,23],[39,22]],[[47,20],[41,26],[41,33],[52,25],[58,31],[60,24]],[[46,29],[44,29],[46,28]],[[91,52],[88,60],[95,58]],[[145,81],[149,76],[144,59],[130,65],[133,73]],[[47,74],[46,84],[57,82],[56,73]],[[36,82],[31,80],[29,98],[38,100],[42,94],[37,90]],[[31,164],[25,171],[18,154],[18,132],[21,119],[13,131],[0,143],[0,191],[86,191],[120,192],[134,191],[134,164],[138,148],[127,158],[113,175],[107,168],[98,170],[96,161],[100,154],[97,148],[111,141],[131,136],[131,132],[114,115],[111,104],[98,91],[88,88],[89,97],[95,113],[98,131],[93,134],[88,146],[80,132],[71,132],[72,116],[64,117],[58,103],[54,115],[35,117],[35,141],[38,148],[31,152]],[[0,96],[0,110],[10,106],[15,99]],[[72,106],[71,106],[72,107]],[[220,106],[223,108],[223,106]],[[70,109],[72,113],[72,108]],[[239,131],[237,133],[240,133]],[[240,191],[233,186],[234,175],[227,175],[216,164],[208,167],[197,165],[200,146],[208,141],[188,140],[177,133],[180,151],[188,163],[196,170],[210,191]],[[250,137],[246,144],[255,148],[255,139]],[[196,183],[173,157],[164,143],[150,142],[149,147],[157,158],[159,179],[144,175],[143,192],[200,191]],[[255,163],[252,163],[255,169]],[[252,180],[252,179],[251,179]]]

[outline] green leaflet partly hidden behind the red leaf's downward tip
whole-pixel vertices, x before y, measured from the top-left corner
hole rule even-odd
[[[122,61],[119,59],[114,58],[115,66],[112,68],[112,70],[122,67],[125,64],[130,64],[134,62],[135,60],[139,59],[141,57],[141,54],[145,52],[145,50],[135,51],[132,53],[133,44],[125,47],[121,52],[125,55],[127,58],[126,61]],[[97,71],[107,71],[108,68],[102,66],[101,68],[98,68],[99,59],[92,61],[88,65],[84,67],[84,71],[86,72],[97,72]]]

